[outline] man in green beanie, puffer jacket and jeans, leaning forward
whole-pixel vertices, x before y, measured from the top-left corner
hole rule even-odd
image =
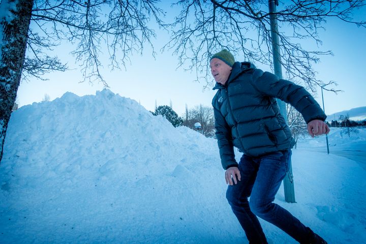
[[[217,82],[214,89],[218,90],[212,106],[221,163],[229,184],[226,197],[249,243],[267,243],[257,216],[300,243],[327,243],[273,203],[294,145],[275,98],[290,103],[302,114],[312,137],[329,133],[319,104],[303,87],[256,69],[249,62],[235,62],[225,49],[211,57],[210,68]],[[243,153],[239,164],[233,146]]]

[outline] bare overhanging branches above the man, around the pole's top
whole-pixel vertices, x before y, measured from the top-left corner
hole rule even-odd
[[[209,57],[222,48],[242,60],[273,67],[267,0],[180,0],[175,5],[181,7],[181,12],[171,23],[171,41],[164,48],[173,49],[179,57],[179,66],[188,63],[188,70],[196,70],[197,79],[204,79],[206,86],[211,85],[207,79]],[[287,77],[299,78],[313,92],[318,85],[333,83],[318,80],[312,68],[319,55],[331,51],[306,50],[299,43],[310,40],[318,46],[322,44],[319,29],[331,17],[366,27],[366,21],[352,19],[352,13],[364,5],[363,0],[281,2],[273,14],[280,26],[281,60]],[[202,73],[203,77],[199,77]]]

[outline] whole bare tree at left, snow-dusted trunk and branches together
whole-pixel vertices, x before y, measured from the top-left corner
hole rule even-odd
[[[107,82],[100,72],[100,55],[110,57],[111,69],[120,68],[132,52],[142,52],[147,43],[153,48],[153,18],[162,25],[159,0],[2,0],[0,9],[0,161],[11,108],[20,79],[67,66],[52,49],[67,41],[83,72],[83,81]],[[29,27],[31,26],[31,27]],[[23,72],[23,73],[22,73]]]

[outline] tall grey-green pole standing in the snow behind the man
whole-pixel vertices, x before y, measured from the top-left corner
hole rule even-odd
[[[278,0],[268,0],[269,5],[269,17],[270,17],[270,27],[271,27],[271,38],[272,38],[272,53],[273,53],[273,69],[275,71],[275,75],[277,75],[280,79],[282,79],[282,67],[281,67],[281,56],[280,56],[280,41],[278,37],[278,26],[277,26],[277,18],[276,14],[276,5],[278,5]],[[287,113],[286,113],[286,103],[277,99],[277,103],[280,107],[280,111],[282,116],[285,118],[286,124],[287,121]],[[285,189],[285,201],[286,202],[295,202],[295,190],[292,176],[292,165],[291,159],[288,163],[288,171],[286,172],[286,176],[284,178],[284,189]]]

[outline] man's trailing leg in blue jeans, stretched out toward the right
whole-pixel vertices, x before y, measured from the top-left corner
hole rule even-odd
[[[258,217],[281,228],[298,242],[311,243],[312,231],[289,211],[273,203],[286,175],[289,160],[291,160],[291,150],[278,151],[261,157],[250,198],[250,207]]]

